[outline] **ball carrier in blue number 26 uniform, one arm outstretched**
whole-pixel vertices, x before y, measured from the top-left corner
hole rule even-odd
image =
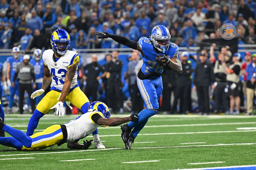
[[[121,126],[121,137],[125,143],[125,149],[131,149],[131,144],[145,126],[148,118],[157,113],[158,99],[163,89],[161,78],[163,67],[177,73],[182,72],[178,58],[179,47],[170,42],[170,32],[162,25],[155,26],[150,38],[142,37],[139,42],[107,32],[96,32],[94,36],[96,35],[99,36],[98,38],[112,38],[120,44],[140,51],[143,56],[143,65],[138,73],[137,85],[144,100],[144,109],[139,113],[138,122],[129,122]]]

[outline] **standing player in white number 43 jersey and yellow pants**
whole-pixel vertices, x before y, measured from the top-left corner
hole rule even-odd
[[[64,115],[65,109],[63,102],[70,102],[83,113],[87,112],[89,100],[77,84],[77,65],[79,55],[75,51],[70,51],[70,37],[67,31],[63,29],[55,30],[51,36],[51,45],[53,50],[45,50],[43,53],[44,78],[41,89],[36,90],[31,95],[35,98],[44,93],[44,90],[51,83],[49,91],[38,103],[32,117],[28,123],[27,136],[31,136],[37,128],[39,119],[56,108],[57,115]],[[98,130],[93,133],[95,148],[105,148],[99,139]]]

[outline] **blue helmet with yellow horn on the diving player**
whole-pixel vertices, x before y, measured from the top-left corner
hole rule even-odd
[[[110,118],[111,114],[109,112],[109,107],[100,101],[93,102],[89,105],[87,112],[92,112],[92,111],[99,111],[104,115],[104,118]]]

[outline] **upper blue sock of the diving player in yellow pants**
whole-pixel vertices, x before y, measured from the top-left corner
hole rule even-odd
[[[4,125],[3,131],[9,133],[12,137],[17,139],[20,143],[22,143],[25,147],[30,148],[32,145],[32,138],[28,137],[24,132],[14,129],[11,126]]]

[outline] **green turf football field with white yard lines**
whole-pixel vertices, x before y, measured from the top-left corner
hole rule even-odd
[[[122,116],[128,115],[112,115]],[[26,132],[30,117],[5,115],[5,122]],[[77,115],[59,117],[47,114],[40,119],[35,132],[75,117]],[[94,149],[92,144],[88,150],[70,150],[65,143],[60,147],[55,145],[24,152],[0,146],[0,169],[227,169],[229,166],[256,165],[256,130],[237,129],[245,127],[256,127],[256,116],[155,115],[132,144],[132,150],[122,149],[124,143],[119,126],[100,127],[100,139],[106,149]],[[6,136],[10,135],[6,133]],[[85,139],[93,138],[88,136]],[[256,169],[256,166],[234,169]]]

